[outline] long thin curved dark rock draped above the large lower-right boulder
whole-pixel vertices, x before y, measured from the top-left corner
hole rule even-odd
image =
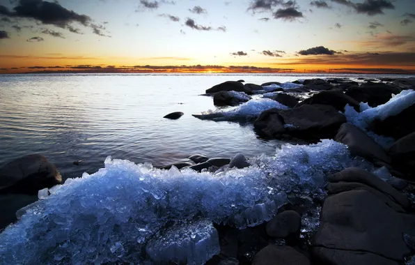
[[[406,195],[398,192],[398,190],[392,188],[391,185],[379,179],[375,174],[367,172],[364,169],[357,167],[349,167],[341,172],[327,176],[330,182],[358,182],[368,185],[369,187],[375,188],[380,192],[384,193],[389,199],[397,202],[404,208],[409,206],[409,201]]]

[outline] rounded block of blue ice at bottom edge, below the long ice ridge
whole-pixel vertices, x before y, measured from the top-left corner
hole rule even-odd
[[[210,220],[174,225],[146,246],[156,264],[205,264],[220,251],[219,236]]]

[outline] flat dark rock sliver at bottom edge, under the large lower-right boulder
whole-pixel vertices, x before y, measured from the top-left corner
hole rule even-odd
[[[313,256],[318,259],[316,264],[330,265],[399,265],[392,259],[386,259],[381,255],[370,252],[353,251],[353,250],[333,250],[330,248],[313,248]]]

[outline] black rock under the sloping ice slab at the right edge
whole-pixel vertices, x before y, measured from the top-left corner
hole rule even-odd
[[[400,139],[415,132],[415,103],[395,116],[389,116],[384,121],[375,119],[370,129],[378,135],[390,136]]]

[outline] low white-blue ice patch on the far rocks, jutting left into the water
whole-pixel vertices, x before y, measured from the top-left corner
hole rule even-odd
[[[242,105],[226,111],[217,109],[214,112],[202,112],[202,114],[195,114],[194,116],[198,119],[211,119],[213,121],[247,121],[258,118],[263,111],[274,107],[277,109],[288,109],[287,106],[275,100],[258,98],[251,99]]]

